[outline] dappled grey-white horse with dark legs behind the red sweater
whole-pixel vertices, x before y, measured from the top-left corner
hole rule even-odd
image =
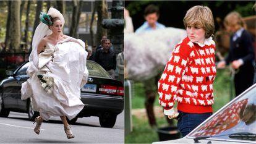
[[[186,30],[181,28],[164,28],[145,33],[127,33],[124,38],[125,44],[125,71],[127,79],[143,82],[154,78],[153,83],[157,87],[158,75],[171,57],[171,53],[181,40],[187,36]],[[145,83],[145,81],[144,81]],[[151,83],[145,85],[145,108],[151,127],[156,127],[153,103],[156,95],[155,90],[149,90]],[[166,118],[168,119],[168,118]],[[168,119],[171,125],[173,121]]]

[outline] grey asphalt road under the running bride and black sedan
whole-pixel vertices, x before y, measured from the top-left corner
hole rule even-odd
[[[0,143],[124,143],[124,112],[117,116],[113,128],[102,128],[98,117],[83,117],[71,125],[75,138],[67,139],[59,117],[51,117],[41,125],[40,135],[33,129],[36,124],[27,120],[27,114],[11,112],[0,117]]]

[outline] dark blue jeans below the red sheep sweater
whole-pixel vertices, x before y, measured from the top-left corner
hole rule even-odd
[[[200,125],[205,119],[211,116],[212,112],[203,113],[203,114],[190,114],[182,111],[178,111],[180,113],[177,127],[182,134],[182,137],[185,137],[192,130],[195,129],[198,125]]]

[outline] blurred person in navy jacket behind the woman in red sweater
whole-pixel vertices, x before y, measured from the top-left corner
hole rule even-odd
[[[230,12],[224,19],[224,25],[231,35],[228,56],[218,63],[217,68],[224,68],[231,63],[236,70],[234,85],[236,96],[253,84],[254,80],[254,46],[253,37],[245,30],[245,23],[238,12]]]

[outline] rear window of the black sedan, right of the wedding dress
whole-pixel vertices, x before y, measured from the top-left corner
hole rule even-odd
[[[96,76],[96,77],[108,77],[110,78],[108,72],[106,72],[105,69],[103,69],[99,64],[93,61],[87,61],[87,69],[90,76]]]

